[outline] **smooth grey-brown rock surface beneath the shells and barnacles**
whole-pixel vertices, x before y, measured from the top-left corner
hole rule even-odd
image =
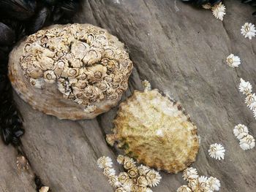
[[[255,149],[241,150],[233,128],[243,123],[256,137],[256,120],[238,91],[239,77],[252,82],[256,90],[256,39],[249,41],[240,34],[241,26],[255,22],[255,18],[251,16],[252,7],[239,1],[227,0],[225,5],[227,15],[222,23],[210,11],[194,9],[180,1],[86,0],[75,22],[107,28],[127,46],[135,69],[123,99],[134,89],[141,90],[140,80],[147,79],[152,88],[181,102],[201,137],[193,164],[199,174],[217,177],[222,192],[254,192]],[[230,53],[241,58],[238,69],[225,64]],[[113,127],[117,107],[93,120],[69,121],[33,110],[18,96],[16,101],[26,128],[23,147],[45,185],[58,192],[113,191],[97,168],[97,158],[116,158],[117,151],[108,147],[104,138]],[[215,142],[227,150],[223,161],[208,156],[208,147]],[[0,151],[4,156],[1,161],[11,167],[10,172],[1,172],[0,183],[17,181],[1,185],[0,191],[32,191],[33,184],[27,185],[29,176],[20,178],[12,165],[15,154],[5,157],[7,150]],[[7,169],[4,164],[1,167]],[[181,174],[161,174],[162,182],[153,191],[175,192],[185,184]]]

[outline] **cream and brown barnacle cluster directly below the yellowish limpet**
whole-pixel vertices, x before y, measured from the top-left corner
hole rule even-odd
[[[102,156],[97,161],[99,168],[103,169],[103,174],[108,177],[108,182],[116,192],[151,192],[151,187],[157,186],[162,178],[158,172],[148,166],[137,166],[128,156],[118,155],[117,161],[125,170],[118,175],[112,168],[111,158]]]

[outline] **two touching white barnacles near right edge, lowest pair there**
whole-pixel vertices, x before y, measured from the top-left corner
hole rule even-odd
[[[242,150],[250,150],[255,147],[255,138],[249,134],[248,128],[242,124],[238,124],[233,129],[233,134],[239,139],[239,145]]]

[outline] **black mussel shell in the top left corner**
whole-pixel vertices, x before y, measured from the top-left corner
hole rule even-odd
[[[17,20],[26,20],[34,15],[36,9],[35,0],[1,0],[0,16],[1,18],[15,18]]]

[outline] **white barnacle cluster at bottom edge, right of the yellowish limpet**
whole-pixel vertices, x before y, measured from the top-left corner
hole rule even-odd
[[[188,185],[182,185],[177,192],[213,192],[219,191],[220,182],[215,177],[199,176],[197,169],[189,167],[184,170],[183,178]]]

